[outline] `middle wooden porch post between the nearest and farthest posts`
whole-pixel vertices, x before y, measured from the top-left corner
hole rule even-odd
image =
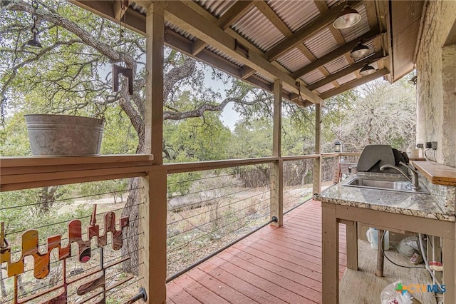
[[[279,157],[271,166],[271,218],[275,216],[274,226],[284,224],[284,162],[281,157],[281,126],[282,125],[282,83],[274,81],[274,126],[272,133],[272,156]]]

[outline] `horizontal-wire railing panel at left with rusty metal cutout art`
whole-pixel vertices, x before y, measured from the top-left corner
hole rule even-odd
[[[132,246],[129,240],[142,234],[139,230],[133,231],[133,228],[138,229],[138,221],[142,219],[138,213],[142,203],[128,199],[130,193],[140,190],[132,185],[128,179],[121,179],[0,193],[0,221],[4,222],[10,263],[24,260],[24,271],[16,275],[17,283],[14,276],[8,276],[8,263],[0,265],[0,304],[14,303],[15,285],[18,298],[24,303],[38,303],[56,297],[65,288],[67,303],[97,302],[103,298],[106,303],[121,303],[138,293],[140,278],[135,274],[142,265],[138,255],[145,249]],[[105,214],[111,212],[115,214],[114,228],[105,227]],[[122,230],[121,217],[129,218],[128,226],[123,229],[124,236],[128,232],[128,238],[123,240],[122,248],[118,248],[119,240],[115,240],[109,231]],[[80,227],[76,229],[78,231],[68,226],[75,220],[81,222],[81,226],[76,225]],[[105,244],[99,246],[100,238],[97,237],[89,241],[88,228],[94,225],[98,225],[100,238],[106,235]],[[36,230],[37,237],[35,233],[30,236],[29,230]],[[60,235],[60,249],[48,252],[56,235]],[[81,255],[80,246],[84,242],[86,250]],[[62,248],[67,247],[70,255],[63,259]],[[33,251],[33,248],[38,251]],[[29,255],[23,258],[25,252]],[[41,263],[48,263],[48,273],[36,270],[38,256],[43,259]],[[94,288],[102,281],[103,291]],[[95,285],[81,292],[81,286],[87,287],[91,283]]]

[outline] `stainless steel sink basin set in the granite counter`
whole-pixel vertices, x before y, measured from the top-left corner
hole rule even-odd
[[[412,190],[412,185],[409,181],[383,181],[370,178],[353,178],[351,181],[344,183],[343,186],[429,194],[424,186],[421,186],[418,191]]]

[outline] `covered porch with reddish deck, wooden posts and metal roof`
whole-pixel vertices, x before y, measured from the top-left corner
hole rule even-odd
[[[326,98],[382,76],[393,83],[418,67],[417,143],[435,139],[440,145],[437,163],[456,167],[456,136],[454,128],[447,127],[456,123],[456,60],[452,60],[456,59],[456,5],[450,1],[348,1],[360,13],[361,22],[347,29],[333,27],[334,19],[346,4],[344,1],[130,1],[127,9],[121,9],[120,1],[71,2],[103,18],[126,20],[126,26],[146,36],[146,152],[135,156],[2,158],[1,191],[140,178],[140,216],[134,219],[140,229],[136,234],[141,244],[136,264],[140,267],[133,283],[144,288],[147,303],[323,303],[321,206],[317,201],[303,203],[301,193],[298,198],[293,193],[287,196],[284,171],[287,163],[310,163],[312,183],[307,199],[321,193],[323,183],[333,181],[323,178],[326,159],[338,163],[343,156],[359,155],[322,153],[321,111]],[[353,58],[352,50],[358,44],[365,46],[365,53]],[[164,45],[274,94],[271,157],[163,163]],[[438,50],[439,56],[430,60],[433,49]],[[368,75],[360,73],[366,64],[375,71]],[[439,92],[431,85],[434,76],[440,81]],[[313,154],[282,156],[284,99],[296,106],[315,107]],[[433,118],[435,113],[438,118]],[[269,168],[265,206],[260,205],[263,201],[258,202],[267,213],[267,219],[261,223],[264,227],[205,262],[195,263],[195,268],[167,283],[169,176],[258,165]],[[337,172],[329,175],[339,176]],[[286,197],[295,205],[303,204],[284,215]],[[372,301],[378,302],[378,280],[359,279],[361,272],[346,272],[343,227],[339,248],[341,303],[353,302],[355,294],[356,299],[362,299],[363,290],[356,284],[371,279],[368,284],[377,290]],[[360,248],[366,248],[365,245]],[[359,255],[366,257],[360,258],[360,268],[366,267],[367,271],[371,268],[368,263],[373,261],[372,253],[362,250]],[[122,258],[125,256],[120,262]],[[411,270],[390,273],[410,275],[412,280],[418,278]],[[420,275],[419,282],[427,284],[429,278],[424,273]],[[116,284],[110,288],[120,286]],[[429,296],[422,303],[435,303],[435,298]],[[450,303],[451,300],[445,304]]]

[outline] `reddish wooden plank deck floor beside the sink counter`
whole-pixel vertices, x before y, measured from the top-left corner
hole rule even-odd
[[[346,265],[341,225],[339,271]],[[321,303],[321,204],[309,201],[167,284],[167,303]]]

